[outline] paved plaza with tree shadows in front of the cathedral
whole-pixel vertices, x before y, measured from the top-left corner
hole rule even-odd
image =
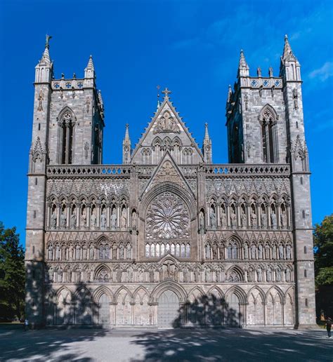
[[[332,361],[325,330],[0,327],[0,361]]]

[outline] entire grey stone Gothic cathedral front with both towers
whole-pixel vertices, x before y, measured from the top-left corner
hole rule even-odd
[[[27,318],[39,326],[311,326],[308,150],[300,65],[280,74],[240,53],[226,102],[228,164],[212,163],[163,91],[121,165],[103,164],[92,58],[54,79],[37,64],[27,203]]]

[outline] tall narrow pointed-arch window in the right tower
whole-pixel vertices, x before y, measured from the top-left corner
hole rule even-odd
[[[259,121],[261,123],[261,140],[263,149],[263,162],[278,162],[278,116],[274,109],[267,105],[263,108]]]

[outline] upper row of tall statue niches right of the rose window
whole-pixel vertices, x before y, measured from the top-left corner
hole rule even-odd
[[[269,217],[268,217],[269,216]],[[248,220],[249,219],[249,220]],[[214,207],[209,209],[209,217],[208,217],[208,229],[217,229],[220,228],[247,228],[252,227],[253,229],[257,229],[261,227],[262,229],[287,229],[289,228],[287,211],[281,210],[280,212],[280,223],[278,223],[278,217],[275,213],[275,210],[270,210],[269,215],[266,214],[265,211],[261,210],[260,218],[257,217],[256,212],[251,210],[249,218],[247,217],[247,213],[245,210],[241,208],[240,211],[240,220],[237,222],[237,212],[231,208],[230,209],[230,217],[228,217],[226,210],[221,209],[221,215],[219,217],[219,223],[216,217],[216,210]],[[259,223],[260,220],[260,223]],[[199,227],[200,230],[204,229],[205,227],[205,218],[204,212],[201,210],[199,214]]]

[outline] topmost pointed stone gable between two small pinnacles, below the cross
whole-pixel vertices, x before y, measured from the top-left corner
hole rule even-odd
[[[200,151],[195,139],[192,138],[191,133],[181,120],[181,117],[176,112],[176,109],[170,102],[168,97],[164,98],[162,105],[159,106],[155,116],[143,133],[136,148],[131,156],[132,161],[136,161],[136,154],[141,147],[152,147],[152,140],[159,138],[161,141],[165,138],[174,140],[179,138],[183,147],[193,147],[202,161],[204,158]]]

